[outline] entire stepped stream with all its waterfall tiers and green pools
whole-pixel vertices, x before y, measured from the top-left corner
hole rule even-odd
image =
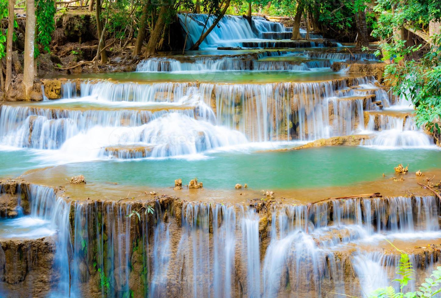
[[[178,18],[187,50],[214,20]],[[441,166],[411,102],[391,98],[373,76],[331,69],[374,55],[349,54],[317,33],[292,41],[291,31],[226,15],[199,51],[143,60],[133,73],[69,77],[60,99],[2,103],[0,175],[53,167],[34,174],[47,183],[0,182],[0,295],[367,297],[399,288],[400,253],[388,241],[409,252],[415,280],[406,290],[415,291],[441,256],[434,195],[313,205],[216,197],[241,181],[257,191],[348,187],[393,175],[398,163]],[[346,136],[360,145],[285,151]],[[60,178],[78,174],[88,184]],[[214,193],[207,201],[104,191],[171,190],[176,178],[196,176]]]

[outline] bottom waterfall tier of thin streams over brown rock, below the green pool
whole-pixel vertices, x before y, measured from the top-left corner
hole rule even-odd
[[[375,248],[379,243],[441,238],[435,196],[243,206],[168,197],[71,201],[45,186],[22,189],[31,206],[25,216],[57,227],[51,252],[57,279],[48,279],[49,291],[76,297],[368,294],[379,286],[368,279],[370,270],[390,284],[400,257]],[[143,211],[148,205],[153,214]],[[139,217],[128,217],[132,211]],[[410,254],[417,280],[408,290],[441,257],[435,246]],[[4,261],[8,276],[13,267]]]

